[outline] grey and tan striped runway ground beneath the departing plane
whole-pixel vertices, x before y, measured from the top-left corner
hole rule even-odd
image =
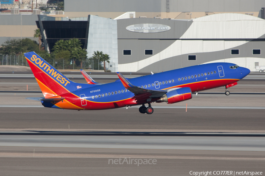
[[[76,74],[68,75],[85,83]],[[115,73],[101,74],[92,77],[102,83],[118,79]],[[39,101],[25,99],[43,97],[34,77],[19,75],[0,77],[0,90],[14,91],[0,92],[0,176],[265,172],[263,73],[239,81],[229,88],[229,96],[222,87],[177,104],[153,103],[152,115],[140,114],[139,106],[100,111],[44,108]],[[31,92],[26,92],[27,85]],[[119,158],[156,159],[157,164],[108,164]]]

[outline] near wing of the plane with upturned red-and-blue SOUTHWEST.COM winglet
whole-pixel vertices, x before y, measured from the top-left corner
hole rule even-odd
[[[148,94],[150,96],[148,97],[161,97],[167,91],[165,90],[152,90],[152,89],[143,89],[137,86],[132,85],[125,77],[120,74],[120,72],[116,72],[118,77],[120,78],[120,81],[122,82],[123,86],[128,89],[130,92],[134,93],[135,95],[138,94]]]

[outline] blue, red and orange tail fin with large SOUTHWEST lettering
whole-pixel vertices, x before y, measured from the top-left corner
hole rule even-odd
[[[45,98],[91,87],[89,84],[70,81],[35,52],[24,53],[24,55]]]

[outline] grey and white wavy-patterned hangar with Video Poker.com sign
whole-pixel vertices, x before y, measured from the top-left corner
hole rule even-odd
[[[166,30],[158,30],[163,26]],[[251,71],[265,65],[265,20],[246,14],[120,19],[117,39],[120,72],[162,72],[212,62],[231,62]]]

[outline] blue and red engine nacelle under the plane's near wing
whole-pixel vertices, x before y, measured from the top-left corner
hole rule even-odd
[[[182,87],[166,93],[158,100],[158,102],[167,102],[168,104],[172,104],[188,100],[191,98],[192,98],[191,88]]]

